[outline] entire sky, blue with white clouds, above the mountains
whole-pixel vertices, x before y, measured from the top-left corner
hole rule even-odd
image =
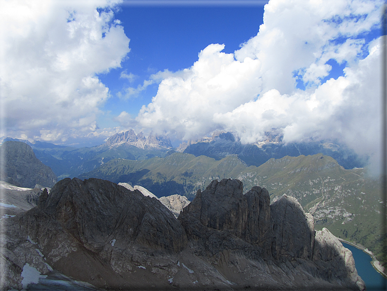
[[[259,143],[275,129],[380,160],[382,0],[0,4],[0,136]]]

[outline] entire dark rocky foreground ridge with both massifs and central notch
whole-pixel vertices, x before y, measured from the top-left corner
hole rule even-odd
[[[290,196],[214,180],[178,218],[112,182],[64,179],[2,221],[2,290],[53,270],[109,290],[364,290],[352,254]]]

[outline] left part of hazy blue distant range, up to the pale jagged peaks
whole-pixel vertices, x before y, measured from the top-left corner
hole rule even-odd
[[[58,176],[58,179],[77,177],[91,171],[107,161],[115,158],[130,160],[144,160],[153,157],[165,157],[172,149],[168,137],[143,133],[135,134],[133,130],[117,133],[111,136],[106,143],[93,147],[71,147],[54,145],[27,140],[2,138],[1,142],[19,141],[30,145],[36,157]]]

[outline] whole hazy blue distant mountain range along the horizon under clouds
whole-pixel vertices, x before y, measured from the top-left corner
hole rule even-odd
[[[106,162],[122,158],[127,160],[147,160],[154,157],[165,157],[175,151],[201,155],[221,160],[229,155],[237,155],[247,166],[260,166],[271,158],[279,159],[286,155],[313,155],[322,153],[333,157],[339,165],[346,169],[363,167],[367,164],[366,157],[357,156],[351,149],[339,143],[310,142],[284,144],[282,137],[275,132],[266,133],[264,141],[256,144],[243,145],[239,138],[231,132],[215,131],[212,137],[203,137],[188,141],[176,148],[171,145],[167,136],[151,133],[145,136],[134,130],[117,133],[104,144],[93,147],[75,148],[12,138],[1,138],[0,142],[19,141],[30,145],[36,157],[45,165],[50,166],[58,180],[66,177],[77,177],[96,169]]]

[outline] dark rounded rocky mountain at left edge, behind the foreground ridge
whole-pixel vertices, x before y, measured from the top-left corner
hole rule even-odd
[[[57,176],[50,167],[40,162],[31,146],[15,141],[7,141],[0,146],[4,157],[4,172],[0,179],[19,187],[34,188],[36,184],[53,187]]]

